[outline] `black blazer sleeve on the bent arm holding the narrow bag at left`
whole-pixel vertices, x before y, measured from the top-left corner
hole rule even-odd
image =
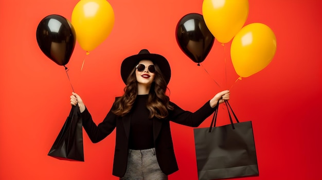
[[[93,143],[102,141],[111,134],[116,127],[117,116],[110,110],[103,121],[98,125],[93,121],[91,113],[87,108],[81,113],[83,127]]]

